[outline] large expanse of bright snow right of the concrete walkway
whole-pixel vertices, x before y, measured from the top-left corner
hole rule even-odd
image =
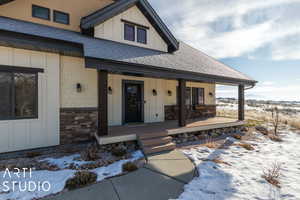
[[[254,151],[239,146],[229,149],[196,147],[184,150],[197,165],[200,176],[185,186],[180,200],[299,200],[300,199],[300,135],[286,131],[284,142],[273,142],[256,133],[258,141],[247,141]],[[220,158],[229,163],[216,164],[205,159]],[[263,178],[272,163],[282,163],[281,188]]]

